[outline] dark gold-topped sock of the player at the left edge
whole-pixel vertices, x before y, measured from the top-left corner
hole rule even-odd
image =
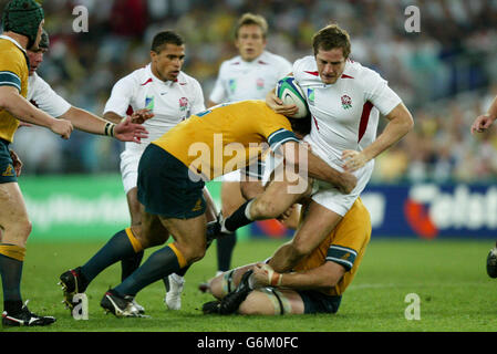
[[[15,244],[0,243],[0,274],[3,288],[3,310],[10,314],[22,309],[21,277],[25,249]]]

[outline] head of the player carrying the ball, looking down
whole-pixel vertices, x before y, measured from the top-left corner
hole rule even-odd
[[[334,84],[345,69],[351,52],[349,33],[338,24],[329,24],[312,38],[315,63],[321,80]]]

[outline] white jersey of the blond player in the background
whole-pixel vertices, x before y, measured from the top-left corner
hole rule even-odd
[[[288,60],[267,51],[251,62],[237,55],[222,62],[209,100],[215,103],[265,100],[291,69]]]

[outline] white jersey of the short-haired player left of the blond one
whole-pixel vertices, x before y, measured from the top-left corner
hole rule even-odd
[[[164,82],[152,73],[148,64],[115,83],[104,113],[126,116],[142,108],[154,113],[154,117],[143,124],[148,137],[142,139],[142,144],[127,142],[126,149],[143,150],[179,122],[205,111],[204,94],[198,81],[184,72],[176,81]]]

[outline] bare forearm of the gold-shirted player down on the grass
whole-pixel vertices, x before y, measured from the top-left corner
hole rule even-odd
[[[291,273],[278,273],[268,264],[258,263],[253,267],[253,280],[256,288],[330,289],[336,285],[345,271],[343,266],[332,261],[307,271]]]

